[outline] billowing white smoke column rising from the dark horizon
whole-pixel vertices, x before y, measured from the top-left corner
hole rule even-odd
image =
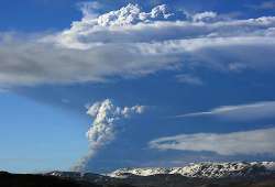
[[[110,99],[102,102],[96,102],[88,107],[87,114],[95,120],[86,132],[89,141],[89,152],[74,167],[73,170],[84,170],[87,162],[97,154],[97,152],[116,140],[121,129],[121,121],[134,114],[144,111],[144,106],[117,107]]]

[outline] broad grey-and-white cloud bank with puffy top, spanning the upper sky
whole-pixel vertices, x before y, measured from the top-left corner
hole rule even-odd
[[[238,20],[136,4],[82,19],[51,34],[0,33],[0,86],[103,82],[158,70],[205,67],[274,70],[275,16]]]

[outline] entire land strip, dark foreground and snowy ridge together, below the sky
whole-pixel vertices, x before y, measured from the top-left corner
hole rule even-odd
[[[275,162],[122,168],[110,174],[0,172],[0,187],[275,187]]]

